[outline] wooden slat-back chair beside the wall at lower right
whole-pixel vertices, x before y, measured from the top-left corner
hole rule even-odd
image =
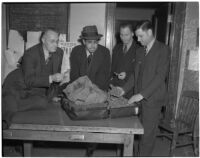
[[[178,137],[194,132],[198,112],[199,93],[196,91],[183,91],[177,110],[166,107],[164,118],[159,123],[161,132],[157,136],[164,136],[171,140],[170,156],[174,156],[176,147],[193,144],[193,141],[187,143],[178,141]]]

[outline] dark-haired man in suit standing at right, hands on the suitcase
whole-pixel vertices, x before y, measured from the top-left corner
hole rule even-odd
[[[150,21],[138,23],[135,34],[144,46],[136,51],[135,71],[123,88],[121,95],[134,87],[129,103],[137,102],[141,108],[144,135],[140,141],[140,156],[152,156],[156,130],[165,103],[166,78],[169,69],[170,50],[157,41]]]

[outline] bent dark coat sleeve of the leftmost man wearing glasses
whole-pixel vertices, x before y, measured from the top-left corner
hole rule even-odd
[[[49,76],[36,73],[37,56],[32,52],[25,52],[22,62],[24,81],[29,88],[49,87]]]

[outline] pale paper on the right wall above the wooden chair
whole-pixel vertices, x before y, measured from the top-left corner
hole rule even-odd
[[[199,71],[199,50],[190,50],[188,70]]]

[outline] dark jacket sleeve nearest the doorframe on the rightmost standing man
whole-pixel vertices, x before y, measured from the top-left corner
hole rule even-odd
[[[169,48],[163,47],[162,52],[160,52],[154,78],[152,79],[150,84],[143,91],[140,92],[144,98],[148,99],[154,93],[154,91],[165,82],[169,69],[169,57]]]

